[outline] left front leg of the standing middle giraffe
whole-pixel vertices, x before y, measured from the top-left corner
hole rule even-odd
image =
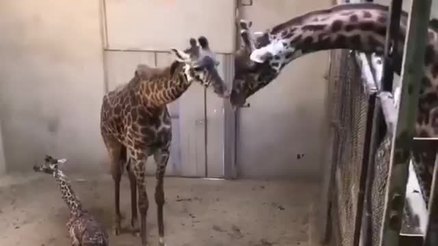
[[[146,192],[146,180],[144,178],[144,163],[147,156],[143,153],[137,153],[136,159],[133,161],[131,168],[134,176],[136,176],[136,184],[138,187],[138,209],[140,210],[140,238],[142,238],[142,246],[148,245],[146,238],[146,215],[149,208],[148,194]]]

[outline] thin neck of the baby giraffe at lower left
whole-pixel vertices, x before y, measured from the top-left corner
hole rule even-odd
[[[55,170],[53,176],[60,186],[62,200],[66,202],[68,208],[70,209],[70,213],[72,215],[80,215],[83,212],[82,203],[75,194],[75,191],[73,191],[73,188],[70,184],[70,179],[60,169]]]

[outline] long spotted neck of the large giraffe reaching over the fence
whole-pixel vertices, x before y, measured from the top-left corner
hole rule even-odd
[[[256,57],[260,51],[269,51],[274,55],[270,66],[279,71],[290,61],[316,51],[352,49],[382,55],[388,17],[388,7],[374,3],[342,4],[309,12],[270,29],[259,38],[259,50],[252,57]],[[403,12],[400,18],[398,53],[394,54],[395,70],[398,73],[406,25],[407,14]],[[429,44],[434,43],[437,33],[429,29],[428,37]]]

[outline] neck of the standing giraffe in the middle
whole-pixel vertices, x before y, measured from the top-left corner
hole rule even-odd
[[[143,74],[140,80],[143,100],[154,107],[177,100],[191,84],[189,74],[188,65],[179,61],[174,61],[157,74]]]

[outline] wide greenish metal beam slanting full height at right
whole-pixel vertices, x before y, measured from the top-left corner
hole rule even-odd
[[[391,161],[385,192],[385,208],[381,230],[381,246],[398,246],[404,197],[409,172],[411,143],[417,115],[422,66],[426,49],[431,0],[412,1],[404,42],[402,85],[396,133],[392,138]],[[402,243],[402,242],[400,242]]]

